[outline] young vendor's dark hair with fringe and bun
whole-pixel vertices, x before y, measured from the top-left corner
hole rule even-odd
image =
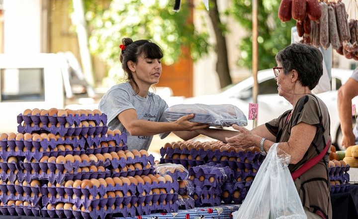
[[[131,38],[123,38],[122,45],[125,46],[125,49],[121,50],[119,60],[122,63],[122,68],[127,75],[127,81],[133,82],[138,89],[138,85],[133,79],[132,72],[128,68],[128,61],[137,63],[138,57],[142,54],[144,54],[146,58],[161,59],[163,58],[163,50],[156,43],[146,39],[133,42]]]

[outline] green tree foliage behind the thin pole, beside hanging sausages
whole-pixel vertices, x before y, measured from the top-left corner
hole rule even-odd
[[[276,53],[291,43],[291,27],[295,26],[295,21],[282,23],[278,19],[279,3],[280,0],[258,0],[259,70],[276,66]],[[227,13],[248,32],[238,45],[237,64],[252,69],[252,0],[233,0]]]

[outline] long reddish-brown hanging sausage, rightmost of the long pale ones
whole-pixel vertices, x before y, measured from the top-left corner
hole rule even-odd
[[[346,6],[341,1],[333,4],[336,9],[336,17],[337,17],[337,26],[340,37],[340,42],[349,41],[351,36],[349,32],[348,20],[347,20],[347,12]]]

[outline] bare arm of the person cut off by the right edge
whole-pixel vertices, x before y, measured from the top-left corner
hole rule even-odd
[[[341,121],[342,146],[349,147],[355,144],[355,135],[352,128],[352,99],[358,95],[358,82],[348,79],[338,90],[338,115]]]

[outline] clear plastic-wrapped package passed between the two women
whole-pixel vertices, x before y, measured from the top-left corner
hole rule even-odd
[[[183,115],[194,113],[189,121],[209,124],[211,126],[228,127],[233,124],[247,125],[247,118],[241,109],[234,105],[179,104],[169,107],[164,115],[168,121],[176,121]]]

